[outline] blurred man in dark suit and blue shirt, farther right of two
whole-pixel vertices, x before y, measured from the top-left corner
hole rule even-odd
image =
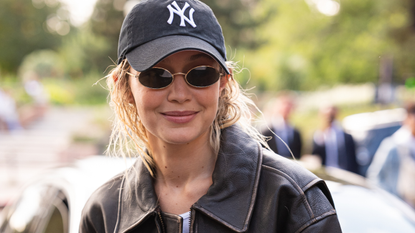
[[[313,136],[313,155],[326,167],[336,167],[358,173],[356,147],[352,136],[336,121],[338,108],[326,105],[320,109],[322,127]]]

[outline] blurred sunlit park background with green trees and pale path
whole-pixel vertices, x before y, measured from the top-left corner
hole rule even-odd
[[[104,152],[111,113],[101,78],[137,2],[0,1],[0,111],[11,122],[0,125],[1,206],[39,170]],[[264,114],[278,92],[297,96],[292,122],[303,154],[323,104],[339,106],[341,120],[415,99],[413,1],[204,2],[240,66],[236,78]]]

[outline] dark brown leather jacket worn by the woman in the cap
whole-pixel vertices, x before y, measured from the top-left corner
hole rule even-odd
[[[80,232],[182,232],[180,216],[160,211],[141,160],[134,166],[136,171],[114,177],[90,197]],[[222,132],[212,178],[191,208],[190,232],[341,232],[324,181],[263,149],[237,126]]]

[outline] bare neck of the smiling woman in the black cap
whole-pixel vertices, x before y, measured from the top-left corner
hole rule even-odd
[[[212,185],[217,156],[208,135],[179,145],[150,140],[156,164],[154,188],[162,211],[173,214],[189,211]]]

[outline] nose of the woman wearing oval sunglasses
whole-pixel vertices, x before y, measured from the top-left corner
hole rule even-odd
[[[184,103],[192,98],[191,87],[187,85],[183,73],[174,75],[173,83],[169,89],[167,99],[171,102]]]

